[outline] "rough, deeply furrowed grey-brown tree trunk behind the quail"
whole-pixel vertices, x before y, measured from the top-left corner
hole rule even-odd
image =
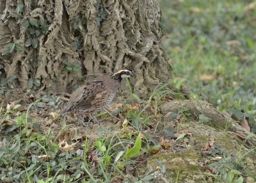
[[[29,78],[59,91],[77,83],[79,76],[110,73],[122,66],[134,72],[134,92],[148,93],[154,84],[168,79],[168,62],[160,46],[162,32],[158,26],[158,0],[24,0],[0,1],[0,49],[22,39],[25,19],[42,19],[49,29],[38,36],[38,47],[13,51],[0,57],[6,76],[15,74],[18,84],[28,88]],[[13,17],[17,3],[24,4],[20,23]],[[76,46],[74,46],[76,44]],[[67,70],[81,63],[76,72]]]

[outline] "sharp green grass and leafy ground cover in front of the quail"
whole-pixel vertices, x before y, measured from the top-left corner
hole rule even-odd
[[[29,105],[8,104],[1,108],[0,182],[111,182],[115,179],[129,182],[125,168],[136,167],[140,154],[160,148],[158,141],[150,139],[144,131],[148,129],[148,119],[155,115],[148,111],[153,108],[150,105],[154,109],[159,107],[164,93],[170,93],[165,90],[166,86],[159,84],[150,100],[143,100],[132,93],[129,85],[129,92],[122,96],[124,105],[130,107],[120,108],[125,122],[115,127],[113,122],[108,122],[111,126],[100,125],[95,131],[98,137],[90,141],[88,134],[90,136],[92,129],[82,134],[73,132],[72,128],[77,128],[74,121],[68,125],[64,118],[50,118],[59,127],[45,127],[49,118],[38,116],[38,112],[44,113],[44,107],[49,105],[53,110],[58,107],[60,102],[56,96],[43,92]],[[134,102],[141,105],[132,107]],[[26,110],[17,111],[20,106]],[[45,115],[48,116],[48,112]],[[81,137],[78,141],[72,140],[76,136]]]

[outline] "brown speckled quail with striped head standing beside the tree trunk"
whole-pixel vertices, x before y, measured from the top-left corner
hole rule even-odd
[[[87,81],[71,94],[67,106],[60,115],[77,108],[83,110],[84,113],[90,113],[94,122],[99,123],[93,113],[101,111],[111,104],[125,77],[133,77],[131,70],[125,68],[112,75],[99,76]]]

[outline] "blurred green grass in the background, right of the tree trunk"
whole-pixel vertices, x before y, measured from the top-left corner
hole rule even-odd
[[[250,2],[160,1],[173,81],[220,109],[256,112],[256,8]]]

